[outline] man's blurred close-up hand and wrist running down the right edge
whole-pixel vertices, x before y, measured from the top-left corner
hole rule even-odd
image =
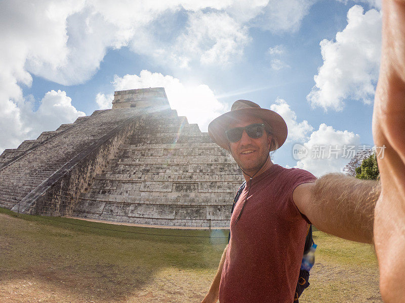
[[[374,242],[384,302],[405,302],[405,1],[383,2],[383,46],[373,137],[385,145],[377,157],[381,194]]]

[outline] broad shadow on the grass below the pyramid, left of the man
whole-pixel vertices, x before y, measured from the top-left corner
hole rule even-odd
[[[4,209],[0,213],[0,285],[33,279],[50,289],[95,300],[131,296],[166,268],[213,270],[227,242],[203,237],[207,230],[47,220]],[[227,237],[228,231],[212,234]]]

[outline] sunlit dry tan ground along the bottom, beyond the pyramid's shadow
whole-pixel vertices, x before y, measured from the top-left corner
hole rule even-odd
[[[210,285],[209,275],[195,275],[176,269],[166,269],[157,273],[151,281],[127,297],[103,299],[97,295],[97,289],[92,294],[71,291],[60,280],[55,285],[54,277],[19,279],[16,275],[12,281],[0,282],[0,302],[4,303],[158,303],[158,302],[200,302]],[[317,264],[313,269],[311,286],[305,290],[300,302],[352,302],[352,303],[382,303],[378,291],[378,275],[358,275],[357,272],[347,272],[338,267]],[[333,283],[330,281],[333,280]],[[377,282],[376,282],[377,281]],[[359,286],[360,289],[359,289]]]

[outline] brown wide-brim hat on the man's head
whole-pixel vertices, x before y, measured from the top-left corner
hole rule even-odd
[[[229,126],[236,123],[241,117],[253,116],[263,120],[264,124],[271,128],[271,134],[277,140],[279,148],[287,139],[287,124],[284,119],[276,112],[271,110],[262,109],[256,103],[249,100],[237,100],[233,103],[231,111],[227,112],[218,118],[215,118],[208,125],[208,133],[215,143],[224,149],[229,149],[229,141],[226,137],[225,131]],[[275,150],[272,147],[272,150]]]

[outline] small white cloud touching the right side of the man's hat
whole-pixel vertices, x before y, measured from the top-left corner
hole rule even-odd
[[[270,110],[279,114],[286,121],[288,128],[288,141],[305,140],[308,134],[313,130],[313,127],[304,120],[297,122],[297,115],[287,104],[286,100],[277,98],[275,104],[270,106]]]

